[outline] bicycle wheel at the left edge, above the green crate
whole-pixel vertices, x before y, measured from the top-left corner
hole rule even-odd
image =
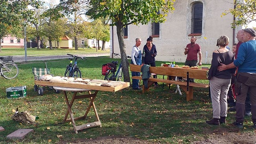
[[[5,79],[13,79],[18,76],[19,68],[12,62],[5,62],[3,66],[0,67],[0,72]]]

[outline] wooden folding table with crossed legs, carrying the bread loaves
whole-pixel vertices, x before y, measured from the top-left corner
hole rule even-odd
[[[101,127],[101,122],[100,118],[98,116],[98,112],[96,110],[96,106],[94,104],[94,100],[96,98],[96,95],[98,91],[108,91],[108,92],[116,92],[119,91],[120,89],[127,88],[130,86],[130,83],[126,82],[125,84],[118,85],[116,87],[104,87],[104,86],[98,86],[98,85],[86,85],[86,84],[68,84],[68,83],[61,83],[61,82],[49,82],[49,81],[40,81],[40,80],[35,80],[35,84],[37,85],[47,85],[47,86],[53,86],[54,89],[60,90],[64,92],[65,96],[65,102],[67,104],[67,112],[64,117],[64,123],[66,122],[72,122],[72,125],[74,127],[75,133],[78,133],[79,130],[85,129],[85,128],[91,128],[91,127],[96,127],[100,126]],[[92,93],[91,90],[94,90],[95,92]],[[67,92],[73,92],[72,99],[69,101],[68,100],[68,95]],[[84,95],[77,95],[78,92],[88,92],[88,94]],[[72,114],[72,104],[74,103],[74,100],[78,99],[84,99],[88,98],[90,99],[89,105],[86,108],[86,112],[84,116],[74,118]],[[82,124],[79,126],[76,126],[76,120],[81,120],[85,119],[86,116],[88,115],[89,110],[93,108],[94,114],[96,116],[96,121],[88,124]],[[68,118],[68,115],[70,115],[70,119]]]

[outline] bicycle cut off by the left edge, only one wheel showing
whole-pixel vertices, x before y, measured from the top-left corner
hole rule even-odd
[[[19,74],[17,64],[13,63],[12,56],[0,57],[0,75],[5,79],[13,79]]]

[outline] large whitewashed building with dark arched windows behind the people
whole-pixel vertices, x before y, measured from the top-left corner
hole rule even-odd
[[[185,62],[184,48],[190,43],[190,37],[196,36],[196,43],[201,46],[202,63],[210,64],[221,35],[229,37],[230,48],[237,42],[236,33],[242,27],[231,28],[234,19],[231,14],[221,17],[222,12],[234,8],[232,3],[233,0],[176,0],[175,10],[168,14],[165,23],[128,25],[124,28],[126,54],[131,55],[137,37],[142,39],[139,47],[142,50],[148,36],[152,35],[157,50],[156,60]],[[116,27],[110,29],[112,53],[119,53]]]

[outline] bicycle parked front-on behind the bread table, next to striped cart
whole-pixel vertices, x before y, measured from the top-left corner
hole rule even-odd
[[[66,71],[64,76],[68,76],[68,77],[80,77],[81,78],[81,71],[77,66],[77,59],[82,59],[85,60],[87,58],[85,57],[80,57],[80,56],[75,56],[72,54],[67,54],[68,56],[72,56],[72,58],[68,58],[68,60],[70,60],[69,64],[67,65]],[[75,59],[75,62],[73,64],[73,60]]]

